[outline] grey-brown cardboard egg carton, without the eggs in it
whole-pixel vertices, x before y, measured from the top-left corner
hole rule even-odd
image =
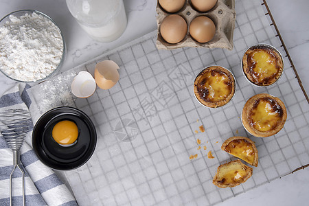
[[[166,42],[161,36],[159,29],[160,25],[166,16],[170,14],[179,14],[187,22],[187,35],[183,40],[176,44]],[[194,41],[189,33],[189,26],[191,21],[196,16],[207,16],[216,25],[216,34],[211,41],[207,43],[198,43]],[[218,0],[214,8],[208,12],[198,12],[191,5],[190,0],[185,1],[185,5],[178,12],[166,12],[157,2],[157,49],[177,49],[181,47],[206,47],[206,48],[225,48],[233,49],[233,32],[235,29],[236,12],[235,0]]]

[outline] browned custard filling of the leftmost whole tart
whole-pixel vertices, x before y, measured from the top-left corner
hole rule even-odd
[[[197,89],[198,94],[205,102],[219,102],[225,100],[231,93],[231,79],[223,71],[208,71],[203,74]]]

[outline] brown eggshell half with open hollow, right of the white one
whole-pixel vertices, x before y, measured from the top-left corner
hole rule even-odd
[[[95,82],[101,89],[111,89],[119,80],[119,66],[112,60],[104,60],[95,65]]]

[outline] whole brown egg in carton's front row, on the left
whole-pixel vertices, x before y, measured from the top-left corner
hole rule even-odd
[[[161,23],[160,34],[168,43],[179,43],[187,34],[187,22],[178,14],[166,16]]]

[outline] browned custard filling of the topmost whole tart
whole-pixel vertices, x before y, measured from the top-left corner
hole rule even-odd
[[[268,81],[273,80],[281,69],[277,61],[278,58],[272,49],[266,47],[254,49],[247,59],[253,81],[258,84],[261,82],[268,83]]]

